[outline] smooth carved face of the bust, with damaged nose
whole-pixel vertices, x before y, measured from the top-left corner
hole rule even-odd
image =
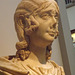
[[[37,43],[50,44],[55,39],[58,32],[58,15],[55,4],[51,4],[48,8],[35,17],[39,23],[39,28],[33,36]]]

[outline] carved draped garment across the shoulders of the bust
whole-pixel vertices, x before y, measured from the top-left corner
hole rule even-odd
[[[54,61],[37,66],[32,65],[32,60],[29,60],[28,64],[26,62],[16,58],[8,60],[8,57],[0,57],[0,75],[65,75],[63,68]]]

